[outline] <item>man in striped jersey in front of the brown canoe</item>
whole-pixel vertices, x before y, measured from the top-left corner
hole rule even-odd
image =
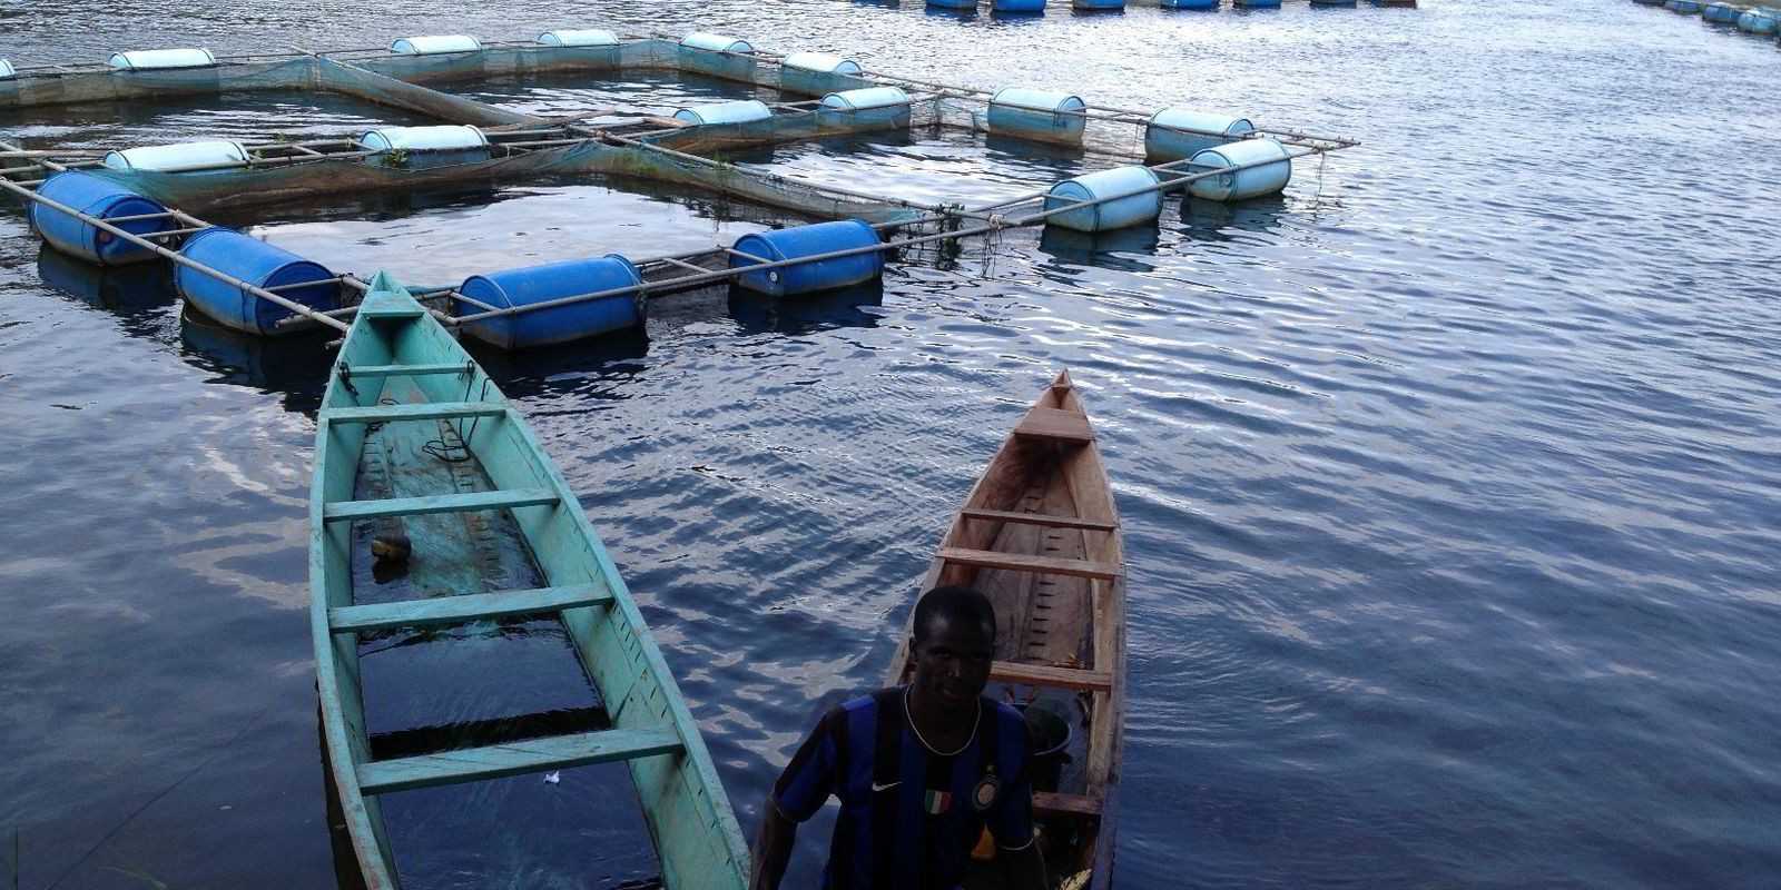
[[[1003,886],[1044,890],[1021,712],[983,696],[996,609],[969,587],[915,603],[915,678],[830,710],[768,796],[753,890],[777,890],[798,822],[841,799],[825,890],[953,890],[983,829]]]

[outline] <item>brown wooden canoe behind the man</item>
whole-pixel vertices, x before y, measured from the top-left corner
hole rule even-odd
[[[1111,883],[1126,684],[1124,562],[1094,427],[1065,370],[971,488],[921,591],[965,584],[988,595],[1001,628],[988,694],[1017,705],[1049,700],[1070,714],[1074,764],[1056,790],[1033,797],[1051,878],[1070,888]],[[889,685],[910,680],[908,648],[905,627]],[[983,886],[996,886],[992,876],[983,878]]]

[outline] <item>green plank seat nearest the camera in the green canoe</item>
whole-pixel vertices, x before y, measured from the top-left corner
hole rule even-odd
[[[673,726],[602,730],[358,764],[365,794],[431,789],[550,769],[680,753]]]

